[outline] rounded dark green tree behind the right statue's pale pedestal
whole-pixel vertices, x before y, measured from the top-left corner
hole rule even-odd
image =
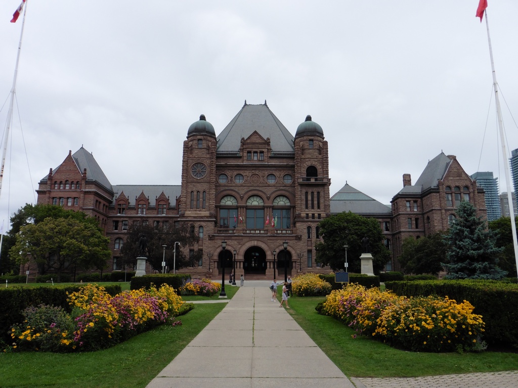
[[[390,251],[383,244],[383,232],[378,220],[366,218],[360,215],[343,212],[334,214],[320,221],[320,235],[323,242],[315,244],[316,260],[323,265],[329,265],[332,270],[344,268],[345,250],[347,248],[347,260],[350,272],[361,272],[362,238],[369,238],[370,253],[372,253],[372,266],[376,273],[390,260]]]

